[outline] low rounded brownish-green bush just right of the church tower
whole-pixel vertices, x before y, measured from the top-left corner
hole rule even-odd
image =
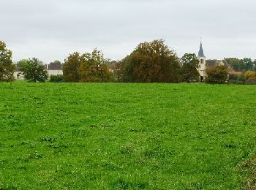
[[[227,81],[227,66],[218,65],[206,69],[206,83],[224,84]]]

